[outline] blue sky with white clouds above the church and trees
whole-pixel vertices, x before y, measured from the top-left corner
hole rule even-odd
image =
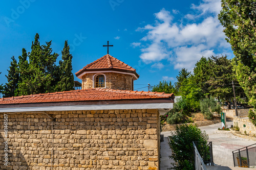
[[[68,40],[74,76],[104,56],[102,45],[110,41],[114,47],[109,54],[140,75],[134,89],[147,91],[147,83],[163,80],[174,83],[181,68],[193,70],[202,56],[233,57],[218,20],[220,10],[220,0],[3,0],[0,84],[7,82],[11,57],[18,59],[23,47],[30,52],[36,33],[41,44],[52,40],[53,52],[58,54]]]

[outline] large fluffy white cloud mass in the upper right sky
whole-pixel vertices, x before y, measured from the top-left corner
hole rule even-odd
[[[146,33],[140,40],[147,45],[138,45],[143,62],[157,64],[168,60],[175,69],[185,67],[192,70],[202,56],[216,56],[219,51],[231,50],[217,17],[221,10],[220,0],[203,0],[199,6],[192,5],[191,9],[194,13],[186,14],[182,19],[195,20],[193,22],[173,22],[174,17],[163,8],[154,14],[153,25],[147,24],[136,30]]]

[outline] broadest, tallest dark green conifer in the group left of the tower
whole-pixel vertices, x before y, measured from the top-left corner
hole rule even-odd
[[[53,92],[56,86],[54,71],[58,54],[52,54],[51,41],[40,45],[39,35],[36,34],[28,57],[28,68],[20,70],[28,76],[23,77],[19,84],[19,95]]]

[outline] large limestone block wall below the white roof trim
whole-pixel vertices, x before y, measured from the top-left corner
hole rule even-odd
[[[46,113],[8,115],[8,166],[1,113],[0,169],[159,169],[157,109]]]

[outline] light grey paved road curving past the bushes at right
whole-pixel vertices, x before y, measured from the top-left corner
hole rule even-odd
[[[232,122],[227,122],[227,127],[230,127],[232,124]],[[199,128],[205,131],[209,135],[209,141],[212,141],[215,165],[233,167],[232,151],[256,143],[254,140],[234,136],[230,131],[219,131],[218,128],[221,128],[221,123]],[[166,137],[170,133],[171,131],[161,132]]]

